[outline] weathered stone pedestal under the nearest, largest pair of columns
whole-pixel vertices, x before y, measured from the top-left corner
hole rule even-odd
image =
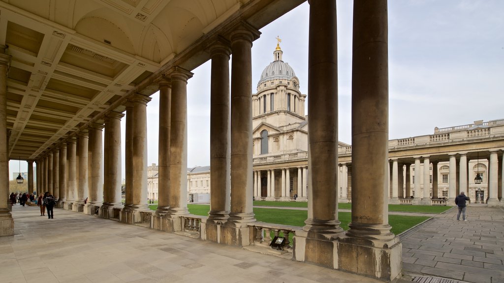
[[[367,240],[343,233],[296,232],[293,258],[358,275],[392,281],[402,275],[402,245],[398,237],[390,241]]]

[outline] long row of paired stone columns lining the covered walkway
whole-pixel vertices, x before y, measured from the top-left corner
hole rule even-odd
[[[354,3],[351,194],[355,205],[352,206],[352,222],[347,232],[340,227],[337,205],[336,2],[310,2],[309,13],[309,171],[298,167],[297,175],[301,175],[301,195],[304,196],[303,186],[306,184],[306,195],[310,197],[305,226],[302,231],[296,232],[294,258],[392,280],[401,273],[401,244],[390,232],[387,209],[387,1]],[[227,37],[215,38],[215,45],[209,48],[212,62],[212,198],[210,215],[202,223],[201,237],[234,246],[250,244],[250,239],[254,236],[250,233],[254,233],[251,232],[254,230],[249,228],[249,224],[256,222],[253,211],[253,176],[256,174],[259,178],[259,173],[253,171],[252,162],[251,47],[259,35],[260,32],[254,27],[239,22]],[[229,84],[228,62],[231,53],[233,56]],[[182,217],[188,213],[185,197],[186,84],[191,76],[192,73],[176,66],[165,72],[159,81],[160,99],[164,100],[162,105],[170,107],[169,111],[160,111],[163,113],[163,122],[160,123],[162,134],[159,136],[162,144],[159,160],[160,207],[152,216],[152,223],[153,228],[169,232],[180,230]],[[5,83],[5,80],[0,81]],[[5,87],[0,86],[0,89],[5,91]],[[228,90],[230,98],[227,95]],[[117,196],[120,195],[120,174],[117,174],[117,166],[120,164],[120,154],[117,151],[117,148],[120,148],[120,128],[117,126],[120,113],[110,112],[105,115],[103,158],[97,148],[97,139],[101,135],[103,124],[90,125],[88,129],[81,130],[41,155],[37,162],[41,166],[39,173],[42,174],[38,176],[41,176],[39,185],[43,191],[54,194],[58,189],[60,202],[67,209],[90,214],[98,212],[101,217],[118,217],[119,221],[124,223],[141,222],[142,212],[148,210],[146,104],[149,100],[149,97],[135,94],[129,97],[125,104],[126,196],[123,207],[117,203]],[[0,120],[5,123],[5,118],[0,117]],[[169,145],[166,146],[168,140]],[[66,166],[68,170],[58,171],[58,184],[55,186],[56,179],[52,171],[55,168],[54,152],[64,156],[65,147],[66,165],[61,158],[56,160],[59,168]],[[2,164],[0,163],[0,166],[3,166]],[[103,171],[95,170],[101,166],[104,167]],[[287,180],[290,180],[290,174],[293,172],[287,168],[282,172],[285,172],[285,182],[281,183],[281,187],[285,184],[284,192],[287,195],[287,190],[290,189]],[[373,172],[372,178],[369,178],[368,172]],[[279,174],[279,178],[283,179],[283,176],[283,173]],[[105,184],[101,205],[99,185],[96,186],[100,178],[103,178]],[[63,180],[67,180],[66,185],[62,184]],[[271,180],[276,180],[275,171],[270,171],[270,190]],[[63,192],[65,187],[66,191]],[[7,194],[0,195],[0,202],[7,202],[3,201]],[[375,197],[370,198],[369,195]],[[0,213],[1,208],[2,206]]]

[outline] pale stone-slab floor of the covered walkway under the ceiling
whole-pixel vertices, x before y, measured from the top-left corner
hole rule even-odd
[[[382,282],[64,209],[13,206],[0,282]]]

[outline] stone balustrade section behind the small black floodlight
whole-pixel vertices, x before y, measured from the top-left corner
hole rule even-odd
[[[253,222],[249,223],[250,228],[250,245],[256,247],[264,248],[266,250],[272,250],[270,243],[273,237],[280,236],[285,238],[285,246],[283,247],[283,253],[292,254],[292,243],[290,241],[290,236],[295,236],[296,231],[300,231],[302,228],[290,225],[280,225],[266,222]]]

